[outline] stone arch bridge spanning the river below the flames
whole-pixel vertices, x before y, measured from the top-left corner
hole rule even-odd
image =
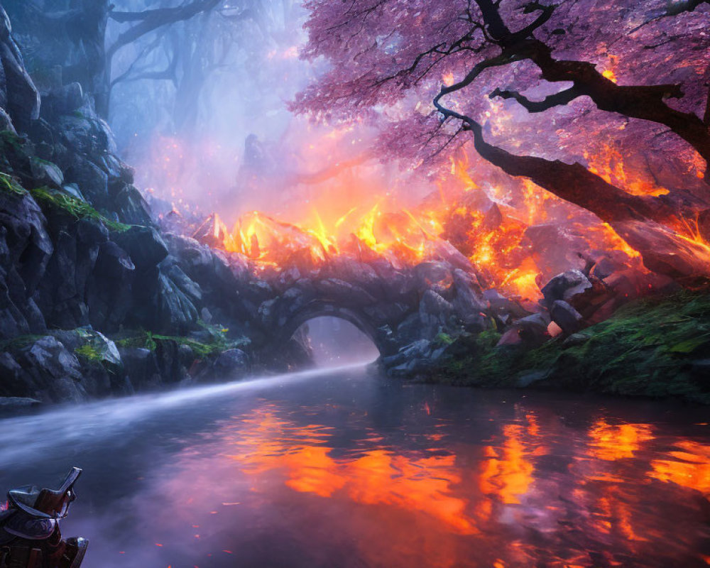
[[[194,239],[173,235],[168,246],[200,284],[214,320],[238,326],[265,364],[298,327],[320,316],[354,324],[392,368],[436,356],[442,332],[479,332],[490,322],[490,299],[461,255],[404,268],[384,258],[337,256],[316,267],[255,270],[243,256]]]

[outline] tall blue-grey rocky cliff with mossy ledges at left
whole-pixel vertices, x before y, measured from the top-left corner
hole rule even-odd
[[[244,342],[200,325],[203,298],[91,95],[35,87],[0,8],[0,397],[82,400],[244,370]]]

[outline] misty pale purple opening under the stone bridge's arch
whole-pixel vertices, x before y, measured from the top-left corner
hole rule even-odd
[[[339,315],[310,317],[297,326],[293,337],[307,346],[319,367],[371,363],[380,356],[373,337]]]

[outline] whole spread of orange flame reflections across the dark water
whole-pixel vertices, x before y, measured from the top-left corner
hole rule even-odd
[[[410,546],[408,527],[417,526],[420,535],[441,549],[435,566],[466,563],[457,549],[443,544],[448,535],[464,535],[491,552],[490,561],[481,565],[587,566],[589,551],[598,549],[599,562],[613,565],[612,552],[618,547],[650,557],[655,545],[668,538],[661,515],[648,509],[639,474],[643,478],[646,471],[654,479],[675,484],[676,488],[667,488],[669,498],[687,488],[710,491],[710,447],[678,438],[674,449],[655,452],[646,424],[616,425],[599,419],[589,425],[587,436],[572,443],[579,452],[571,454],[569,469],[577,474],[571,485],[558,485],[559,478],[537,461],[542,455],[557,454],[548,443],[570,439],[559,435],[567,429],[559,431],[553,425],[550,431],[550,423],[540,425],[532,413],[518,415],[513,423],[504,421],[495,443],[454,446],[446,453],[436,433],[427,435],[428,447],[412,451],[383,445],[383,438],[374,434],[359,439],[356,448],[336,450],[332,444],[336,428],[317,422],[297,425],[275,404],[253,410],[235,427],[238,434],[231,438],[230,458],[248,476],[252,491],[273,493],[277,483],[304,495],[380,507],[379,538],[361,540],[379,560],[379,539],[394,549]],[[558,436],[551,439],[550,432]],[[569,446],[562,446],[562,455],[567,456]],[[472,458],[479,466],[471,468]],[[335,504],[332,510],[337,510]],[[511,525],[514,531],[520,526],[530,529],[542,540],[530,542],[511,534]],[[348,527],[359,530],[356,523]],[[680,542],[677,550],[691,550],[692,544]],[[465,558],[471,561],[470,556]]]

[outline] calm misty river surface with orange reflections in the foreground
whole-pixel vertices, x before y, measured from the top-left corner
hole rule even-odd
[[[708,410],[301,373],[0,420],[87,568],[706,567]]]

